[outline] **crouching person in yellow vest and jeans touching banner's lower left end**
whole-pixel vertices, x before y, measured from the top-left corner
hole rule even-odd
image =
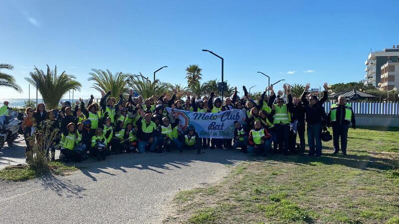
[[[160,137],[158,138],[158,146],[162,150],[167,150],[168,152],[171,151],[171,148],[175,146],[176,148],[179,149],[180,152],[182,152],[181,144],[179,139],[176,137],[173,137],[173,130],[175,127],[179,125],[179,118],[178,115],[175,114],[175,122],[170,123],[168,117],[162,118],[162,125],[158,127],[158,132],[160,133]],[[161,150],[161,152],[162,152]]]

